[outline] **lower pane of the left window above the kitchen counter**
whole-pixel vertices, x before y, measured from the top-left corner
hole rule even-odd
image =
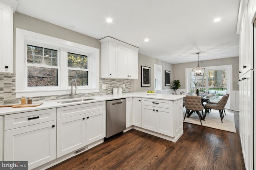
[[[58,69],[28,66],[28,87],[58,86]]]

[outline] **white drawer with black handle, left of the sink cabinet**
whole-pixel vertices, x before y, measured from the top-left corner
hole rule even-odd
[[[4,130],[56,120],[56,108],[4,116]]]

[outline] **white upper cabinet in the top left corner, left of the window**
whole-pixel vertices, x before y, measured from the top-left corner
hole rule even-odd
[[[13,18],[18,1],[0,1],[0,73],[12,73],[13,69]]]

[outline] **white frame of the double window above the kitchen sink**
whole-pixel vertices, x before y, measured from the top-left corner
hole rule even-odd
[[[39,47],[41,44],[45,45],[43,47],[49,47],[50,49],[59,49],[58,86],[27,87],[26,44],[38,44]],[[68,86],[68,52],[87,55],[89,58],[88,86],[78,86],[76,93],[99,92],[99,51],[94,47],[16,28],[16,98],[21,96],[36,97],[70,94],[71,87]]]

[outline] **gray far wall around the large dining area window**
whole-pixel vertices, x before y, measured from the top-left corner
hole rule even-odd
[[[239,57],[232,57],[226,59],[216,59],[208,61],[199,61],[200,66],[220,66],[220,65],[233,65],[233,90],[239,90],[237,84],[239,79]],[[180,80],[181,87],[180,89],[186,88],[185,82],[185,68],[194,68],[197,66],[197,62],[192,63],[182,63],[182,64],[173,64],[173,80]]]

